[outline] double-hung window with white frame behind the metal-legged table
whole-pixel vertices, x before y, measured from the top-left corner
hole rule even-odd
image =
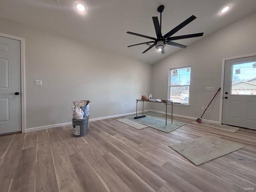
[[[190,66],[170,69],[168,99],[189,104]]]

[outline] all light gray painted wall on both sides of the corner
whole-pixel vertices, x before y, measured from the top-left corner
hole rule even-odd
[[[70,122],[73,100],[92,100],[90,118],[134,112],[135,99],[151,90],[154,98],[167,98],[169,68],[186,65],[192,67],[190,106],[174,106],[174,114],[198,117],[214,94],[205,87],[220,87],[222,58],[256,53],[256,14],[172,54],[153,70],[132,58],[3,18],[0,25],[0,32],[25,38],[26,128]],[[34,86],[34,80],[42,80],[42,86]],[[220,96],[204,118],[218,121],[219,102]]]

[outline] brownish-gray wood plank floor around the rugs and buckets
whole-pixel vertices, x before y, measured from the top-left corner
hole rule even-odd
[[[256,131],[236,133],[188,124],[170,133],[136,130],[118,118],[90,122],[87,136],[71,126],[0,136],[3,192],[242,192],[256,188]],[[200,166],[168,147],[218,136],[244,148]]]

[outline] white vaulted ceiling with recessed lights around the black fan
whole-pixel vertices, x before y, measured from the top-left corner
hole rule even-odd
[[[204,32],[204,36],[256,11],[256,0],[80,0],[87,6],[86,14],[74,9],[76,0],[1,0],[0,17],[54,32],[85,42],[94,47],[114,51],[153,64],[180,50],[166,46],[161,54],[152,48],[141,54],[147,45],[128,45],[150,41],[126,34],[127,31],[155,37],[152,16],[160,16],[157,7],[164,4],[162,33],[165,34],[192,14],[197,19],[176,35]],[[220,10],[230,5],[230,11]],[[185,45],[203,37],[176,40]]]

